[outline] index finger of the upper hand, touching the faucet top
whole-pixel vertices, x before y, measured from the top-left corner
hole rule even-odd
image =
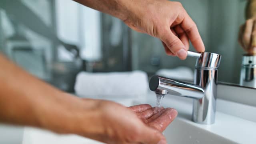
[[[196,23],[190,18],[190,16],[188,16],[187,13],[185,14],[184,20],[181,22],[180,26],[186,32],[194,48],[198,52],[204,52],[205,51],[204,43],[198,32]]]

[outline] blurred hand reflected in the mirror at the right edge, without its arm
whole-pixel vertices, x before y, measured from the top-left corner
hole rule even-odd
[[[256,18],[240,26],[238,42],[248,54],[256,54]]]

